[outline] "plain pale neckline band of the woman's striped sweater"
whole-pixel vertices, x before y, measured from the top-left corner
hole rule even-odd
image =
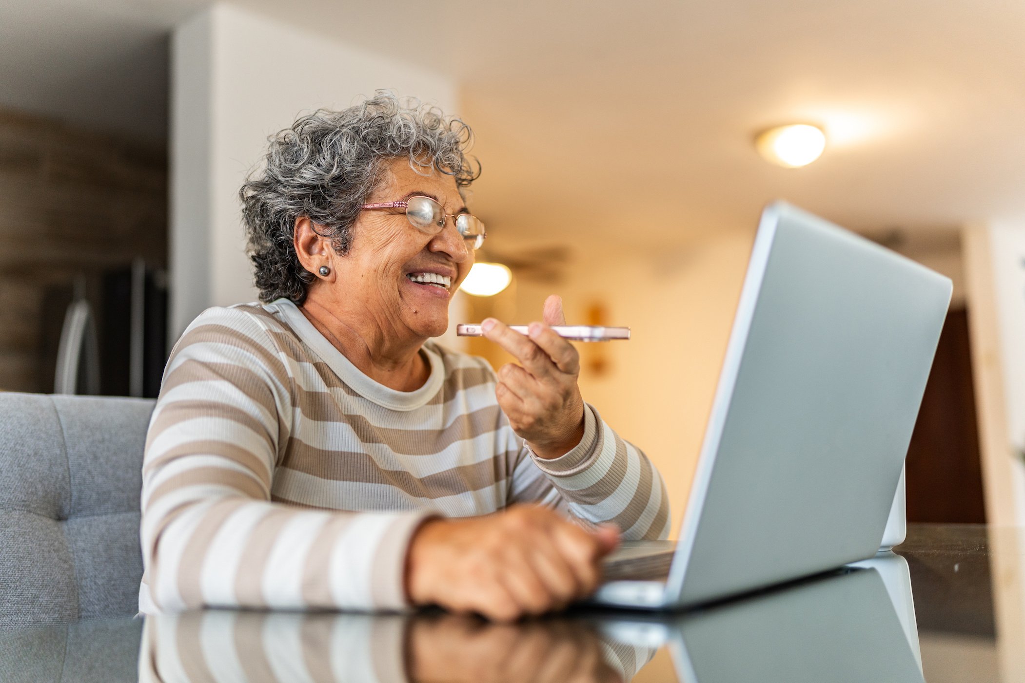
[[[434,349],[424,344],[420,347],[419,352],[426,357],[430,366],[430,375],[427,376],[427,381],[423,383],[423,386],[413,391],[399,391],[386,387],[353,365],[353,361],[346,358],[344,353],[339,351],[320,333],[320,330],[314,327],[313,323],[306,319],[306,316],[291,299],[276,299],[271,305],[276,306],[281,311],[288,327],[327,364],[328,368],[334,371],[341,381],[378,405],[393,411],[413,411],[422,408],[434,398],[445,382],[444,361]]]

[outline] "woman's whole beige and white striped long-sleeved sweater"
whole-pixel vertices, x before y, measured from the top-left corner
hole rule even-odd
[[[399,609],[428,516],[514,503],[665,538],[657,470],[590,405],[566,455],[509,427],[486,360],[427,342],[425,384],[360,372],[287,299],[210,308],[171,352],[142,465],[139,610]]]

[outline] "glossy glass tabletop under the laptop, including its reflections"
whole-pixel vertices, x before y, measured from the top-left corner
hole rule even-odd
[[[896,553],[673,614],[206,610],[6,631],[0,681],[1025,680],[1023,538],[910,525]]]

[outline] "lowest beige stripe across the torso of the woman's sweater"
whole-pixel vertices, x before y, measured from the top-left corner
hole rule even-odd
[[[382,469],[365,453],[322,451],[305,444],[296,445],[283,461],[282,468],[330,481],[388,484],[410,496],[432,499],[502,486],[505,481],[504,467],[498,458],[452,467],[421,478],[407,470]]]

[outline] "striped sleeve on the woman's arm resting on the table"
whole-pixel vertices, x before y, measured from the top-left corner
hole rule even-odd
[[[291,399],[300,379],[271,334],[245,312],[210,309],[172,352],[144,461],[144,612],[406,606],[405,553],[427,511],[272,502],[280,446],[302,416]]]

